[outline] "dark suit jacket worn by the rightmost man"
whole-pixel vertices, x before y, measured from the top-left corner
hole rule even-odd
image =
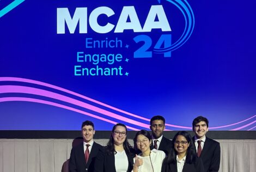
[[[220,143],[206,137],[200,158],[203,161],[205,172],[217,172],[221,162]]]

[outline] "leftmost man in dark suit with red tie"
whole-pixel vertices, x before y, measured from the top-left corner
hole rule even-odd
[[[95,157],[102,149],[100,144],[93,140],[95,134],[92,121],[84,121],[82,124],[83,143],[72,148],[69,159],[70,172],[94,171]]]

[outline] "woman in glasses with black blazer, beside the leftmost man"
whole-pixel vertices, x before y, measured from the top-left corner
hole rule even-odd
[[[124,124],[116,124],[107,146],[99,151],[95,159],[95,172],[130,172],[133,168],[135,150],[126,139],[127,128]]]

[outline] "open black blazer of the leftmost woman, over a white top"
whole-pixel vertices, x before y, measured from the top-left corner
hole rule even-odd
[[[115,156],[114,154],[108,155],[106,148],[98,152],[95,159],[94,172],[115,172]],[[132,153],[131,155],[125,152],[129,161],[127,172],[132,171],[133,158],[135,157],[135,150],[131,149],[130,152]]]

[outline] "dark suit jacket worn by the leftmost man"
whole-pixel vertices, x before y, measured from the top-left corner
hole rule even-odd
[[[86,158],[84,157],[83,143],[72,148],[69,159],[69,171],[70,172],[93,172],[95,157],[99,150],[103,149],[100,144],[93,143],[92,150],[90,151],[89,159],[86,164]]]

